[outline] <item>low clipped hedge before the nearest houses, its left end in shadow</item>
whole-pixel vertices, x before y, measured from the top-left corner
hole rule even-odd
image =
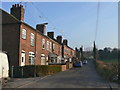
[[[28,78],[34,76],[45,76],[61,71],[61,65],[26,65],[14,67],[14,78]]]

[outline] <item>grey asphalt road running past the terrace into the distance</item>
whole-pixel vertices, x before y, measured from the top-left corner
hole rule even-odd
[[[118,87],[114,83],[111,86]],[[98,75],[93,61],[89,61],[82,68],[46,76],[19,88],[109,88],[109,84]]]

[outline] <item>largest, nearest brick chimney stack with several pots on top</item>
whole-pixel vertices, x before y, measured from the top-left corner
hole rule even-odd
[[[10,13],[20,21],[24,21],[24,8],[21,4],[12,5]]]

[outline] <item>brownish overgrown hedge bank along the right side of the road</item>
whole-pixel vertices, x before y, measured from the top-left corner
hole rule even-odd
[[[96,69],[98,73],[106,80],[120,83],[119,75],[120,63],[118,60],[96,60]]]

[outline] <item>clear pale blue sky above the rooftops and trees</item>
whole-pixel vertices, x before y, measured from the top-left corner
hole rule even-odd
[[[18,2],[17,2],[18,3]],[[10,13],[16,2],[3,2],[2,9]],[[72,48],[93,47],[95,40],[98,2],[22,2],[25,22],[47,22],[47,32],[62,35]],[[97,48],[118,47],[118,3],[99,2]]]

